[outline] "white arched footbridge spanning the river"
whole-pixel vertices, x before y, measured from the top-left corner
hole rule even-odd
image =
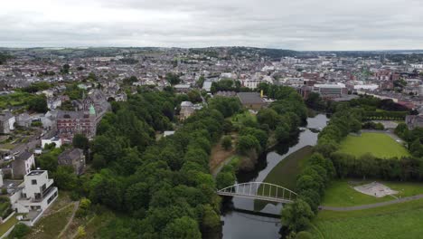
[[[296,193],[283,186],[277,186],[264,182],[249,182],[227,186],[220,190],[218,193],[232,195],[232,196],[250,196],[262,199],[278,199],[294,201]]]

